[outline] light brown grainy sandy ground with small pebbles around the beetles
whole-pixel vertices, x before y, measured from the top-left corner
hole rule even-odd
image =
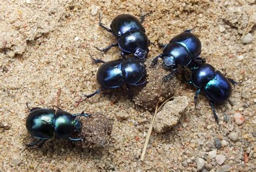
[[[0,2],[0,170],[1,171],[255,171],[255,1],[172,1],[111,3],[91,1]],[[175,96],[191,99],[179,125],[164,134],[152,133],[145,160],[140,161],[151,112],[134,105],[125,92],[100,94],[75,108],[82,93],[98,88],[90,56],[118,59],[119,49],[98,52],[115,38],[107,26],[120,13],[139,16],[152,11],[143,25],[151,42],[167,43],[186,29],[202,43],[201,56],[227,77],[243,80],[214,121],[207,99],[179,81]],[[249,22],[251,21],[251,22]],[[247,27],[247,25],[249,26]],[[249,33],[247,35],[247,33]],[[241,36],[244,36],[241,39]],[[246,44],[243,44],[242,41]],[[161,52],[151,46],[149,59]],[[167,83],[166,83],[167,84]],[[25,103],[51,107],[58,89],[60,106],[68,112],[101,112],[113,120],[110,144],[104,149],[71,147],[53,140],[42,149],[24,150]],[[177,105],[179,106],[179,105]],[[226,115],[224,115],[226,114]],[[126,116],[126,118],[120,118]],[[238,116],[238,117],[236,117]],[[225,121],[223,121],[225,117]],[[216,156],[217,155],[217,156]]]

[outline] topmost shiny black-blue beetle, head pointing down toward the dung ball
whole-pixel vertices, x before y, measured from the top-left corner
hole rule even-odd
[[[122,50],[121,56],[123,58],[125,58],[125,54],[132,53],[139,61],[144,61],[149,52],[150,44],[145,33],[146,31],[142,26],[142,22],[146,15],[142,16],[140,21],[132,15],[118,15],[112,20],[110,25],[111,29],[102,24],[99,16],[99,26],[103,27],[106,31],[111,32],[118,39],[118,42],[107,46],[105,49],[98,49],[97,47],[96,49],[107,52],[111,47],[119,46]]]

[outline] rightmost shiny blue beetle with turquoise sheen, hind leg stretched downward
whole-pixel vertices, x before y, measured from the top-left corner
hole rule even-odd
[[[183,77],[186,79],[185,74]],[[206,97],[210,100],[210,106],[215,120],[218,123],[218,116],[214,109],[214,104],[224,104],[232,93],[231,83],[233,85],[240,84],[233,79],[226,78],[220,71],[210,64],[201,64],[199,66],[193,66],[190,80],[187,80],[188,84],[197,87],[196,95],[194,95],[194,104],[197,107],[198,94],[202,91]]]

